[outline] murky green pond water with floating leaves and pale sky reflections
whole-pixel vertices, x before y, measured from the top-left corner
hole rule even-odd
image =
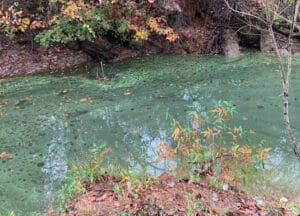
[[[207,110],[219,100],[233,101],[235,123],[256,131],[252,145],[273,148],[270,179],[300,193],[300,165],[282,126],[274,62],[261,54],[234,63],[220,56],[165,56],[106,65],[112,79],[105,82],[34,76],[0,83],[0,152],[13,154],[0,161],[0,214],[43,211],[68,165],[94,145],[111,148],[107,163],[159,174],[166,165],[155,163],[155,149],[162,139],[171,142],[172,118],[185,122],[193,104]],[[300,137],[300,60],[295,62],[290,107]],[[92,101],[80,102],[87,97]]]

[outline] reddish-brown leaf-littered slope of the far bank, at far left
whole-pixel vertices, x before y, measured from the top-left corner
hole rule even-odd
[[[0,78],[55,72],[91,61],[82,51],[61,44],[49,48],[0,38]]]

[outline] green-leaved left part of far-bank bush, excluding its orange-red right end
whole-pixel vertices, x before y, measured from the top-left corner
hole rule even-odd
[[[62,8],[62,14],[54,17],[51,27],[38,34],[35,40],[45,46],[50,42],[84,41],[107,34],[119,40],[127,40],[128,21],[123,17],[112,19],[109,10],[101,5],[90,7],[67,3]]]

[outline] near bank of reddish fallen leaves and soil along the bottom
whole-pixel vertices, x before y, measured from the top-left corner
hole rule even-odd
[[[119,183],[107,179],[87,187],[62,215],[295,215],[283,208],[268,212],[243,193],[212,186],[207,178],[199,183],[174,182],[163,173],[152,183],[138,186],[135,193],[128,186],[116,193],[114,186]]]

